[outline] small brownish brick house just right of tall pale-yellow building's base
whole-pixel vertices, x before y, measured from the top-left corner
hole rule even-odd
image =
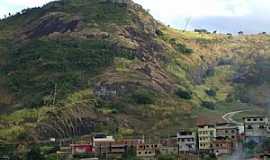
[[[233,142],[228,138],[216,137],[211,144],[213,153],[216,156],[231,154],[233,151]]]

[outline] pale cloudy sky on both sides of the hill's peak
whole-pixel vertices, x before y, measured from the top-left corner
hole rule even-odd
[[[0,17],[52,0],[0,0]],[[175,28],[223,33],[270,32],[270,0],[134,0]]]

